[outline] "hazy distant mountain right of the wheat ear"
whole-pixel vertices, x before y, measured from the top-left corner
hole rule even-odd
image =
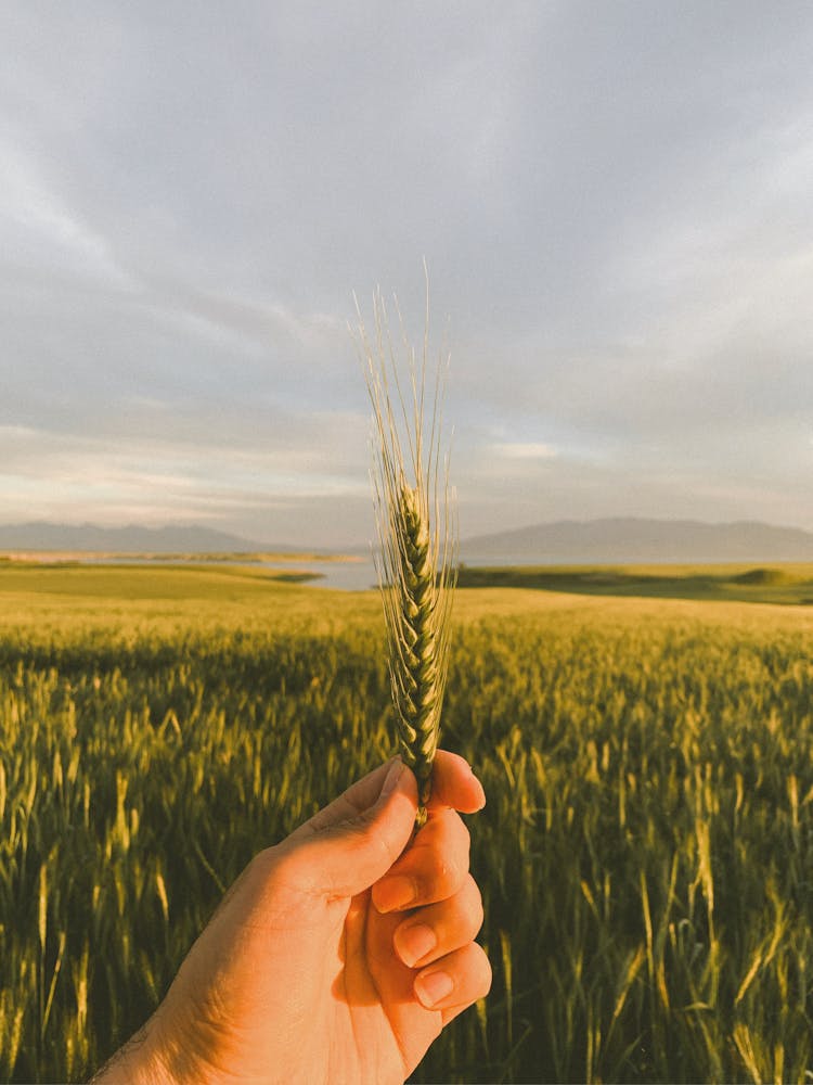
[[[577,565],[813,561],[813,533],[750,521],[562,520],[466,539],[461,560]]]

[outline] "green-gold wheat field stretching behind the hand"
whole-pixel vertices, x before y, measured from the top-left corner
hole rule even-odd
[[[813,607],[766,579],[792,605],[459,591],[494,985],[415,1081],[813,1076]],[[0,564],[0,1078],[86,1078],[250,856],[392,748],[374,592]]]

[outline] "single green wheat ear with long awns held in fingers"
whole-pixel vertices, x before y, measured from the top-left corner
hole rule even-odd
[[[409,378],[399,378],[398,352],[380,291],[373,299],[374,337],[359,318],[357,344],[373,405],[373,488],[379,550],[376,570],[387,626],[389,676],[401,756],[418,783],[417,824],[426,820],[431,766],[438,748],[456,583],[456,532],[449,458],[441,459],[441,408],[448,356],[428,375],[428,280],[423,353],[418,361],[398,301]]]

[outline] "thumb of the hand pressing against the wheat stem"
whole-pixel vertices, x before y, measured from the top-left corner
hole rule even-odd
[[[399,760],[382,766],[288,838],[302,882],[334,899],[370,889],[410,842],[416,809],[412,771]]]

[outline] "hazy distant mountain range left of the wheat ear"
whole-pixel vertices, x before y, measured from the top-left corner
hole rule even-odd
[[[88,550],[100,553],[247,553],[268,551],[262,542],[188,526],[98,527],[95,524],[0,524],[0,550]],[[274,547],[296,550],[297,547]]]

